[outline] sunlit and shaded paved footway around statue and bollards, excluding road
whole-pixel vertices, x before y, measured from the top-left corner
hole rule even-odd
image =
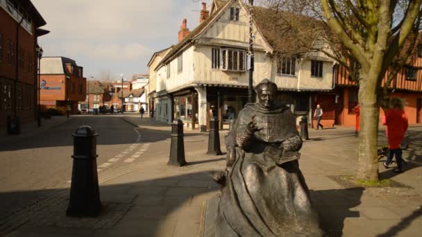
[[[226,164],[224,155],[205,155],[208,134],[186,130],[187,166],[167,166],[169,126],[124,116],[140,128],[139,145],[126,146],[139,157],[124,166],[99,173],[105,211],[97,219],[65,217],[67,188],[56,188],[59,198],[24,209],[31,218],[8,236],[196,236],[205,200],[219,193],[210,172]],[[410,128],[411,146],[405,151],[407,168],[396,174],[380,163],[380,175],[403,184],[396,188],[350,188],[331,177],[353,175],[356,142],[351,128],[310,130],[301,150],[305,175],[321,227],[328,236],[418,236],[422,225],[422,127]],[[221,143],[225,131],[221,132]],[[382,131],[380,132],[382,135]],[[380,136],[382,139],[382,136]],[[147,149],[143,150],[147,145]],[[223,146],[221,150],[225,152]],[[119,158],[119,152],[104,160]],[[99,163],[101,164],[101,163]],[[68,184],[69,185],[69,184]],[[41,192],[35,190],[32,192]],[[60,211],[61,210],[61,211]],[[22,217],[22,215],[21,215]],[[45,220],[40,220],[44,218]],[[11,221],[15,223],[14,220]],[[1,225],[3,227],[3,225]],[[6,231],[10,232],[10,231]],[[3,232],[3,233],[6,233]]]

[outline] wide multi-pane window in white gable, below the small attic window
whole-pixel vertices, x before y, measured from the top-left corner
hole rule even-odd
[[[235,52],[237,59],[235,61]],[[246,71],[246,51],[243,49],[221,49],[221,70],[222,71]],[[231,68],[230,68],[231,55]],[[235,67],[235,62],[237,62]]]

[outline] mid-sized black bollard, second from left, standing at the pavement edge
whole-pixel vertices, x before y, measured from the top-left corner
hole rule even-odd
[[[185,143],[183,141],[183,122],[178,120],[171,123],[170,166],[185,166]]]

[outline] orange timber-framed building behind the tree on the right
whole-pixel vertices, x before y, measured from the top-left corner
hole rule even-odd
[[[419,44],[414,49],[405,64],[397,73],[397,78],[391,82],[389,97],[401,98],[405,103],[405,112],[409,124],[422,123],[422,34]],[[406,49],[403,49],[406,51]],[[387,82],[387,75],[382,80],[382,86]],[[312,113],[316,104],[321,104],[324,116],[321,123],[324,127],[344,125],[353,127],[356,124],[355,107],[358,104],[359,85],[349,75],[345,67],[335,68],[335,89],[326,93],[315,94],[312,97]],[[380,118],[384,111],[380,109]],[[313,125],[316,126],[315,119]]]

